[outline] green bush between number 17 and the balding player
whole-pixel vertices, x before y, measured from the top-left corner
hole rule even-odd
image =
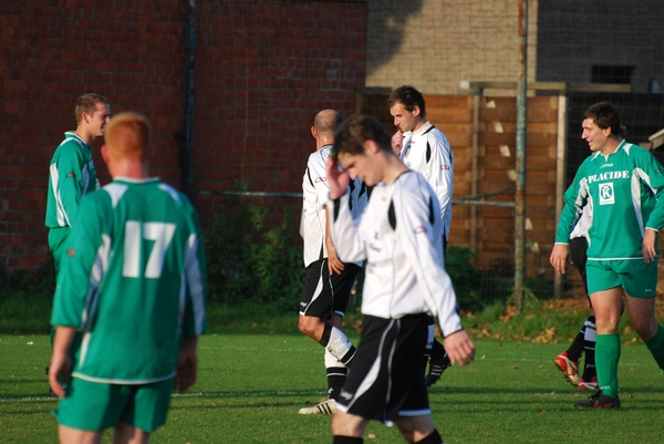
[[[231,196],[216,209],[205,234],[209,299],[258,302],[298,311],[305,270],[302,248],[289,230],[297,224],[286,208],[280,226],[264,230],[264,207]]]

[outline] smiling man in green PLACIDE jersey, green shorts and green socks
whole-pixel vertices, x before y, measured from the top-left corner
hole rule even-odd
[[[588,205],[588,292],[595,312],[595,365],[600,391],[578,407],[620,407],[618,326],[621,301],[632,327],[664,370],[664,329],[655,320],[658,245],[664,227],[664,168],[646,149],[620,137],[615,107],[601,102],[583,115],[582,138],[592,154],[564,194],[550,262],[564,273],[572,228]]]

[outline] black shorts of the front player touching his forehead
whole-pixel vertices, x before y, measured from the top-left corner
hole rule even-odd
[[[364,316],[357,353],[336,407],[384,423],[430,414],[422,371],[429,319]]]

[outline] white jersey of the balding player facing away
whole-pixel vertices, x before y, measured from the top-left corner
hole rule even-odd
[[[302,179],[302,218],[300,235],[304,240],[304,266],[328,257],[325,247],[325,205],[329,203],[330,186],[325,162],[330,157],[332,145],[324,145],[312,153],[307,163]],[[357,217],[366,207],[366,186],[362,180],[351,180],[349,208]],[[361,262],[357,264],[359,266]]]

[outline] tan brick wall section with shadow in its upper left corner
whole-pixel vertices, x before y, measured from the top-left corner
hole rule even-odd
[[[370,0],[366,86],[456,94],[460,81],[516,81],[519,0]],[[529,1],[528,78],[538,1]]]

